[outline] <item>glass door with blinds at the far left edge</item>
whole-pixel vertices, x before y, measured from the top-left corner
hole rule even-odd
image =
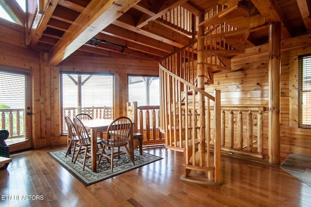
[[[30,80],[29,73],[0,70],[0,126],[10,133],[10,152],[31,147]]]

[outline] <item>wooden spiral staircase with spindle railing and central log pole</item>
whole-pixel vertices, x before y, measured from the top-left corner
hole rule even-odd
[[[231,69],[232,56],[244,53],[249,29],[232,18],[248,15],[237,4],[198,17],[196,39],[160,60],[160,130],[166,148],[184,154],[182,180],[221,184],[221,95],[205,86],[214,83],[214,73]]]

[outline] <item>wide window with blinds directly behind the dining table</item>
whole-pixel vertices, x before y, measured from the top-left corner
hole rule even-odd
[[[61,72],[61,133],[67,133],[64,115],[87,113],[93,119],[114,118],[114,75]]]

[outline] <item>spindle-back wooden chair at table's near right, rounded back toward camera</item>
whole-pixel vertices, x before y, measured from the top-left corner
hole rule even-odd
[[[131,135],[132,130],[132,121],[128,117],[119,117],[112,121],[107,128],[107,136],[103,139],[102,143],[104,145],[102,152],[99,156],[98,165],[101,162],[102,156],[111,163],[111,173],[113,172],[113,158],[120,155],[127,154],[129,155],[131,161],[135,165],[134,159],[130,156],[129,149],[127,147],[128,139]],[[110,148],[110,153],[107,154],[105,147]],[[126,152],[120,150],[120,147],[125,147]],[[114,151],[114,148],[118,148],[117,151]]]

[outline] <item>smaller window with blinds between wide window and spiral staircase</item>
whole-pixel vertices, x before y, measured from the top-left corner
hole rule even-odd
[[[137,106],[146,105],[159,105],[160,104],[160,80],[158,76],[128,76],[128,102],[137,102]],[[152,110],[149,111],[152,114]],[[158,113],[155,111],[156,116],[156,128],[158,128]],[[139,113],[138,113],[139,114]],[[145,113],[144,117],[144,129],[145,127]],[[150,128],[152,128],[152,116],[150,117]],[[138,115],[138,128],[139,128],[139,115]]]

